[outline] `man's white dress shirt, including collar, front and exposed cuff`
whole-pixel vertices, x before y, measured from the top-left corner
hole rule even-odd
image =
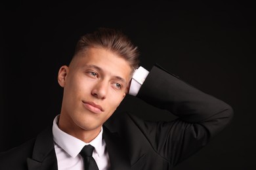
[[[135,71],[131,80],[130,95],[137,95],[148,73],[149,72],[141,66]],[[58,161],[58,170],[83,170],[83,158],[80,156],[79,152],[86,144],[91,144],[95,147],[93,158],[98,165],[98,169],[110,169],[110,158],[106,150],[106,143],[104,139],[102,139],[103,128],[101,127],[100,133],[91,143],[84,143],[80,139],[58,128],[59,116],[60,115],[57,115],[53,121],[53,140]]]

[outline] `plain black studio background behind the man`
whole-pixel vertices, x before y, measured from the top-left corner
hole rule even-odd
[[[122,29],[154,63],[234,109],[232,124],[175,169],[255,165],[255,5],[251,1],[10,1],[0,3],[0,151],[35,137],[60,112],[56,76],[78,38]],[[136,105],[136,106],[135,106]],[[128,96],[117,110],[156,110]]]

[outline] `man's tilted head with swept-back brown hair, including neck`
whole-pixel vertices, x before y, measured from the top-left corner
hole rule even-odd
[[[137,58],[137,48],[119,31],[81,37],[70,65],[58,73],[64,88],[60,129],[86,142],[94,139],[129,92]]]

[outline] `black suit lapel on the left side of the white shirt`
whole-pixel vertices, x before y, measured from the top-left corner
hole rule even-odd
[[[52,126],[37,136],[32,158],[27,159],[29,170],[57,170],[57,158],[54,150]]]

